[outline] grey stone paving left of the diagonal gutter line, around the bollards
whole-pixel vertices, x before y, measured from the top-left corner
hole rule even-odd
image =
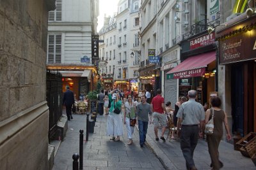
[[[79,153],[79,130],[86,130],[86,115],[73,115],[68,121],[68,131],[65,139],[54,158],[53,170],[71,170],[72,155]],[[164,169],[150,147],[140,147],[138,131],[134,129],[134,144],[127,145],[127,131],[121,141],[110,141],[106,136],[106,116],[97,115],[94,133],[89,135],[89,141],[84,143],[83,169]]]

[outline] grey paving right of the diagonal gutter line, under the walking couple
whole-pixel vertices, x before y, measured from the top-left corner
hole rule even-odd
[[[166,130],[164,138],[167,138],[168,130]],[[161,136],[161,129],[158,131]],[[157,157],[163,163],[166,169],[186,169],[186,162],[180,150],[179,140],[171,140],[163,142],[155,140],[154,125],[148,125],[147,143],[152,147]],[[220,160],[224,167],[221,169],[256,169],[250,158],[244,157],[240,152],[234,150],[234,146],[225,141],[221,141],[219,146]],[[211,158],[208,153],[207,142],[199,139],[198,145],[194,152],[195,165],[200,169],[211,169]]]

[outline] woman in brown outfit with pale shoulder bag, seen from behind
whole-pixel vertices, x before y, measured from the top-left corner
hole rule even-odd
[[[219,152],[218,147],[220,145],[221,138],[223,136],[223,124],[225,125],[225,129],[227,132],[227,140],[231,139],[229,127],[228,127],[228,120],[227,114],[225,111],[221,110],[221,99],[220,97],[213,96],[211,97],[211,109],[208,109],[205,113],[205,124],[211,120],[213,115],[214,121],[214,129],[213,134],[207,134],[207,144],[208,144],[208,151],[211,156],[211,167],[212,169],[220,169],[223,167],[223,163],[219,160]]]

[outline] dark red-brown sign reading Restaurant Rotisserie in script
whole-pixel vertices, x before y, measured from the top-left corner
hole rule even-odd
[[[256,30],[220,41],[220,64],[256,59]]]

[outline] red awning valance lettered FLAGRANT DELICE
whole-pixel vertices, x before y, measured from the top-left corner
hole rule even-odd
[[[197,77],[197,76],[203,76],[205,73],[205,67],[200,69],[191,69],[188,71],[181,71],[177,73],[173,73],[173,78],[190,78],[190,77]]]

